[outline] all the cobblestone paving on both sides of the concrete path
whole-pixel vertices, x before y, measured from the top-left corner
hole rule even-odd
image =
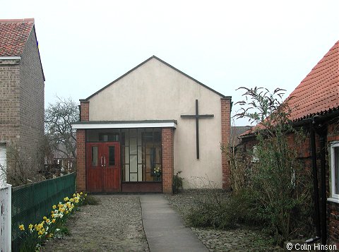
[[[184,216],[196,204],[200,191],[192,190],[165,196],[173,208]],[[48,241],[42,252],[64,251],[149,251],[141,220],[137,195],[95,196],[100,205],[85,205],[68,222],[71,232],[64,239]],[[239,227],[232,230],[191,228],[209,251],[283,251],[267,248],[268,239],[260,230]],[[174,241],[175,242],[175,241]]]

